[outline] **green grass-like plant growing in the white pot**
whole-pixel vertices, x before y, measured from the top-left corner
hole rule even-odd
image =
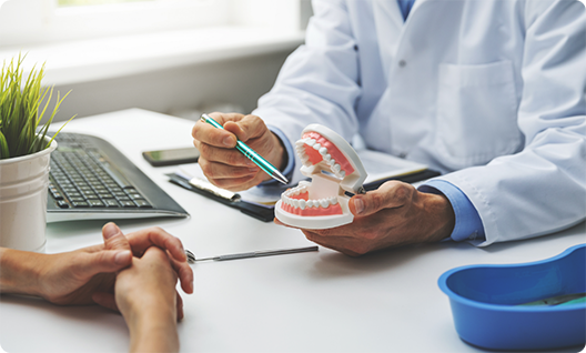
[[[44,64],[40,70],[37,70],[37,65],[34,65],[28,78],[24,78],[24,70],[22,69],[24,57],[19,54],[17,61],[12,59],[8,64],[4,61],[0,72],[0,160],[44,150],[64,127],[63,124],[59,129],[49,143],[44,143],[49,125],[59,111],[59,105],[70,92],[62,98],[57,92],[57,102],[51,117],[39,129],[53,97],[53,87],[41,85],[41,80],[44,77]],[[41,110],[43,101],[46,102]]]

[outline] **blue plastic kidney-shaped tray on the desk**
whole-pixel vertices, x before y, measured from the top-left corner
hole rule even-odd
[[[459,337],[492,350],[545,350],[586,343],[586,303],[519,306],[586,292],[586,244],[522,264],[468,265],[438,280]]]

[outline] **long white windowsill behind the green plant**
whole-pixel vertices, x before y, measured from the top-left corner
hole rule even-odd
[[[19,52],[28,53],[26,70],[47,62],[43,83],[64,85],[293,50],[303,40],[303,31],[218,27],[1,48],[0,60],[10,60]]]

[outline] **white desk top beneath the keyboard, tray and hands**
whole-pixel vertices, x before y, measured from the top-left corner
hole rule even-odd
[[[191,219],[120,221],[124,232],[160,225],[196,256],[306,246],[300,231],[263,223],[166,181],[143,150],[191,144],[193,122],[143,110],[74,120],[64,131],[111,141],[156,181]],[[105,222],[48,226],[50,253],[101,242]],[[183,295],[182,352],[485,352],[462,342],[437,278],[475,263],[550,258],[586,242],[586,224],[539,239],[477,249],[442,243],[358,259],[320,252],[193,266],[195,293]],[[127,352],[122,316],[98,306],[59,307],[0,296],[0,352]],[[556,352],[583,352],[582,347]]]

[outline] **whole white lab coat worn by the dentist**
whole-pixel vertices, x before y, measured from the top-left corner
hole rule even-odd
[[[267,124],[294,143],[322,123],[441,170],[479,245],[585,219],[586,1],[417,0],[406,22],[396,0],[313,6],[254,111]]]

